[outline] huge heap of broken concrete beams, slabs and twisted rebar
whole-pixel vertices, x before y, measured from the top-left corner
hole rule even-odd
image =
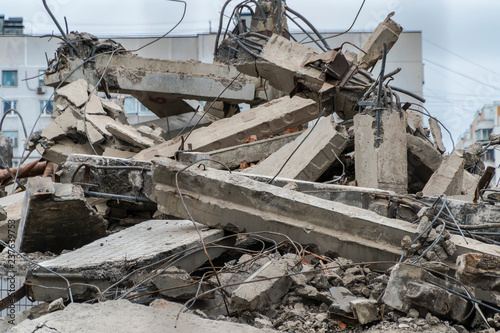
[[[392,15],[354,54],[290,40],[289,11],[259,1],[214,64],[68,35],[42,159],[2,175],[1,269],[25,283],[0,308],[41,302],[3,330],[500,329],[483,147],[444,155],[423,99],[386,83]],[[114,93],[159,119],[130,125]]]

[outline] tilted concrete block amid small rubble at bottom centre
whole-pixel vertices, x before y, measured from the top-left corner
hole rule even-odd
[[[264,266],[245,280],[245,284],[242,284],[232,292],[231,310],[255,311],[279,302],[292,284],[292,280],[286,273],[298,262],[300,262],[300,257],[288,254],[278,260],[272,259],[264,264]],[[248,283],[259,279],[269,280]]]

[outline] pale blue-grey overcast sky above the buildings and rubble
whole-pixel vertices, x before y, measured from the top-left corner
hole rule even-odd
[[[188,0],[174,35],[214,31],[225,0]],[[239,1],[235,0],[234,3]],[[288,0],[320,31],[349,27],[361,0]],[[47,0],[70,30],[98,36],[157,36],[180,19],[183,4],[167,0]],[[422,31],[426,106],[457,137],[474,112],[500,101],[500,1],[366,0],[353,31],[372,31],[389,12],[406,31]],[[2,0],[6,17],[22,16],[25,33],[57,31],[41,0]],[[448,140],[447,140],[448,141]],[[447,142],[450,147],[450,143]]]

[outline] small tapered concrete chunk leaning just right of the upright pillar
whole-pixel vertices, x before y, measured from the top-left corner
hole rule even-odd
[[[453,153],[444,158],[423,189],[426,196],[462,193],[465,160]]]

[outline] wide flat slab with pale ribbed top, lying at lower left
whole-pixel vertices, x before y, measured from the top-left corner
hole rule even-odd
[[[198,228],[205,243],[224,236],[222,230],[207,229],[201,225],[198,225]],[[94,284],[104,290],[130,273],[129,267],[145,267],[142,273],[147,274],[158,268],[162,259],[185,249],[193,251],[184,252],[185,260],[178,260],[175,265],[191,272],[207,260],[203,248],[199,245],[199,239],[196,227],[191,221],[149,220],[40,264],[66,276],[72,283]],[[207,250],[211,258],[224,252],[224,249],[220,248]],[[157,264],[151,265],[154,263]],[[146,267],[148,265],[150,267]],[[54,274],[48,274],[43,269],[31,271],[27,281],[32,283],[29,295],[38,301],[67,297],[64,280]],[[63,290],[39,286],[62,287]],[[89,299],[89,295],[96,295],[96,289],[88,285],[76,285],[72,292],[77,300]]]

